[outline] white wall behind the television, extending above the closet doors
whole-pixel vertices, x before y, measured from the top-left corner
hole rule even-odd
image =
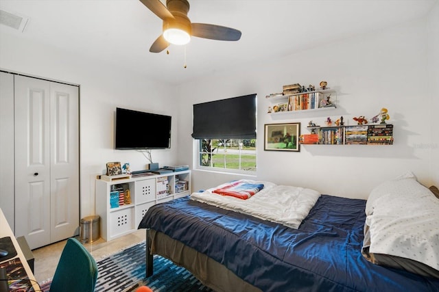
[[[177,108],[169,107],[175,96],[173,88],[145,80],[133,72],[84,59],[80,53],[59,51],[38,42],[2,34],[0,68],[80,85],[81,217],[95,212],[95,177],[106,172],[106,162],[130,162],[132,170],[145,169],[149,163],[139,152],[114,149],[116,107],[177,118]],[[134,127],[141,133],[143,126]],[[179,131],[177,122],[172,123],[171,131]],[[172,144],[178,144],[176,138]],[[154,162],[171,164],[176,155],[176,147],[152,150]]]

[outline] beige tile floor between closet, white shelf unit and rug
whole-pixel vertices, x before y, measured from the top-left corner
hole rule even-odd
[[[140,229],[134,231],[134,233],[113,239],[112,241],[98,239],[93,243],[84,243],[84,246],[88,252],[92,254],[93,258],[97,260],[108,254],[117,252],[118,250],[121,250],[127,246],[139,243],[145,240],[145,238],[145,229]],[[79,239],[79,237],[76,237],[76,239]],[[43,282],[54,276],[56,265],[58,265],[61,252],[65,244],[66,241],[64,240],[51,245],[46,245],[43,248],[32,250],[35,258],[34,275],[38,282]]]

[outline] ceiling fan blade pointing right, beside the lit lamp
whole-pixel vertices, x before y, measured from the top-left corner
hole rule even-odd
[[[241,31],[220,25],[209,25],[207,23],[192,23],[192,36],[198,38],[209,38],[211,40],[239,40]]]

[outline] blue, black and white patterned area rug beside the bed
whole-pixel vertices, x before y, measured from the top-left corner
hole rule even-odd
[[[131,292],[142,285],[152,291],[213,291],[204,286],[187,269],[174,265],[167,258],[154,255],[154,275],[145,278],[145,241],[97,261],[97,292]],[[48,292],[50,281],[40,283]]]

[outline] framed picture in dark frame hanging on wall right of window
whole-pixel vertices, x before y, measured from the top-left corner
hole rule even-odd
[[[300,151],[300,122],[265,124],[264,150]]]

